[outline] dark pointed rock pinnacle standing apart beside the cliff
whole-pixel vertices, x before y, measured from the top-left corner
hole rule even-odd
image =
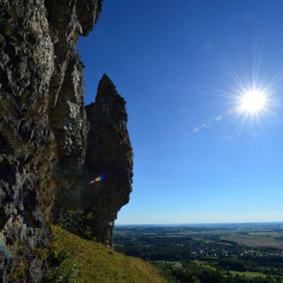
[[[93,213],[98,241],[113,246],[112,229],[132,192],[132,147],[127,132],[125,100],[107,75],[98,85],[96,102],[86,106],[90,123],[83,174],[83,205]],[[99,177],[99,182],[91,183]]]

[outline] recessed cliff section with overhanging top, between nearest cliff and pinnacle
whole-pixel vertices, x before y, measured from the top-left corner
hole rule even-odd
[[[79,35],[86,36],[96,23],[102,0],[48,0],[54,33],[54,71],[50,82],[48,117],[54,134],[57,163],[52,212],[76,207],[83,173],[88,122],[83,106],[83,64],[76,51]],[[61,201],[63,200],[63,201]],[[67,205],[65,205],[67,204]]]

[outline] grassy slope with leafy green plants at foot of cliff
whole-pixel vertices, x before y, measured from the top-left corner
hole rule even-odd
[[[139,258],[116,253],[95,241],[87,241],[73,233],[52,226],[64,236],[52,245],[51,282],[64,283],[165,283],[160,272]],[[61,281],[60,281],[61,280]]]

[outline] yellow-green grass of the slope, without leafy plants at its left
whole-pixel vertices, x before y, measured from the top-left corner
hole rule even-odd
[[[56,249],[75,248],[79,281],[83,283],[166,283],[149,263],[116,253],[100,243],[69,233],[55,243]]]

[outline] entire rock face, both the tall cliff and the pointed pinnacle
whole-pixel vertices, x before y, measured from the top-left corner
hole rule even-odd
[[[129,199],[132,151],[125,101],[104,76],[88,119],[83,107],[76,44],[96,23],[101,2],[1,0],[0,282],[45,281],[46,263],[34,251],[48,245],[54,203],[67,209],[74,202],[93,212],[98,240],[112,246],[112,221]],[[100,173],[105,182],[96,198],[84,203],[85,182]]]

